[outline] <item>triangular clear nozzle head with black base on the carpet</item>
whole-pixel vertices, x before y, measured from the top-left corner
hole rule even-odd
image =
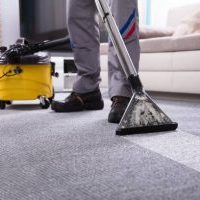
[[[144,91],[136,92],[116,130],[117,135],[176,130],[178,124],[153,102]]]

